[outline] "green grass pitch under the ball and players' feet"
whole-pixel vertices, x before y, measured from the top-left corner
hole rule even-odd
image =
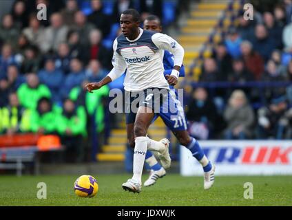
[[[140,194],[121,187],[131,175],[93,176],[99,186],[93,198],[74,194],[78,175],[0,176],[0,206],[292,206],[292,176],[216,177],[206,191],[202,177],[169,174]],[[39,182],[47,185],[47,199],[36,197]],[[253,184],[253,199],[243,197],[245,182]]]

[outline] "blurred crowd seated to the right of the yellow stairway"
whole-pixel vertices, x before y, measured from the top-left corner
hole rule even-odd
[[[252,3],[253,20],[240,8],[203,58],[189,96],[190,132],[199,139],[291,139],[292,1],[240,2]]]

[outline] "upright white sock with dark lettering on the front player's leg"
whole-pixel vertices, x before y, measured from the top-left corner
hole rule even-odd
[[[142,183],[142,172],[147,151],[147,138],[136,137],[134,148],[133,177],[140,184]]]

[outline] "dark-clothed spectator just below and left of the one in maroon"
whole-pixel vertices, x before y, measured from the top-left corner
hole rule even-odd
[[[245,68],[242,58],[237,58],[232,61],[232,71],[229,72],[228,80],[233,83],[253,81],[253,74]]]

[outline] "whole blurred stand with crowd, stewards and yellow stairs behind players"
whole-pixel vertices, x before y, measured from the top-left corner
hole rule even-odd
[[[36,17],[40,3],[46,20]],[[253,5],[253,20],[243,17],[245,3]],[[156,14],[163,32],[183,45],[186,77],[178,88],[185,89],[191,135],[292,139],[292,0],[1,0],[2,164],[36,162],[38,152],[41,163],[126,162],[132,171],[124,115],[108,109],[110,89],[123,89],[123,78],[94,94],[83,89],[112,68],[112,43],[127,8],[143,19]],[[170,137],[179,159],[162,120],[149,135]]]

